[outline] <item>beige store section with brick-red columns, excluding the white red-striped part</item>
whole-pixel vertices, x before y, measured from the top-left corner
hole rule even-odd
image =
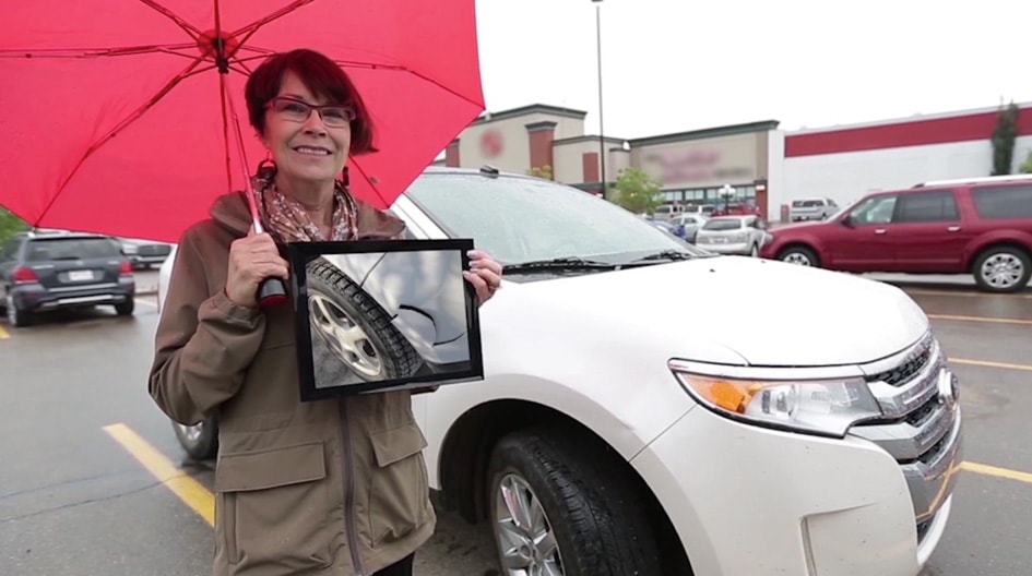
[[[602,192],[600,148],[606,149],[605,180],[620,170],[643,170],[671,202],[719,202],[722,190],[734,200],[769,202],[766,181],[772,159],[781,161],[783,135],[774,120],[711,128],[637,140],[584,133],[586,112],[535,104],[485,113],[451,143],[446,166],[479,167],[530,173],[550,169],[553,177],[588,192]],[[729,187],[729,188],[725,188]]]

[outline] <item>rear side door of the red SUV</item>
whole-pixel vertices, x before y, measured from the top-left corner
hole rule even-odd
[[[886,227],[898,272],[961,272],[964,245],[974,233],[963,224],[953,190],[901,194]]]

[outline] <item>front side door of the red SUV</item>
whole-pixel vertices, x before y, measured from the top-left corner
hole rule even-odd
[[[841,272],[894,272],[895,259],[888,238],[897,194],[877,194],[861,201],[849,214],[822,229],[828,262]]]

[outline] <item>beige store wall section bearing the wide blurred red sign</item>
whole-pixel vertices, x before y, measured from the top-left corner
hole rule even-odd
[[[631,149],[631,163],[665,189],[751,182],[767,161],[757,140],[758,134],[747,133],[644,145]]]

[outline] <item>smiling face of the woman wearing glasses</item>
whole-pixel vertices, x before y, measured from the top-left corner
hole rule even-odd
[[[347,161],[351,125],[347,121],[333,122],[340,119],[341,110],[323,110],[332,125],[327,125],[317,110],[311,110],[305,118],[308,109],[304,105],[339,103],[327,101],[323,96],[312,94],[289,70],[283,75],[276,96],[278,99],[273,100],[265,110],[265,133],[262,140],[272,152],[280,176],[309,183],[332,182]],[[342,109],[349,112],[346,107]]]

